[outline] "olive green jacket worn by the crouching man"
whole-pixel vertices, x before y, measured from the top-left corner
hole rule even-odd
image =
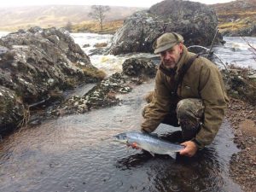
[[[173,80],[177,79],[177,71],[189,58],[195,56],[188,52],[183,46],[183,54],[177,63],[175,76],[167,76],[160,69],[156,73],[155,88],[152,102],[144,114],[144,121],[141,125],[142,131],[154,131],[160,122],[171,110],[173,101],[171,91],[173,90]],[[224,119],[224,110],[227,107],[228,97],[224,90],[224,83],[218,67],[212,61],[200,56],[195,59],[183,81],[177,87],[177,96],[179,99],[199,98],[205,107],[201,130],[197,133],[195,139],[202,146],[212,143],[218,129]]]

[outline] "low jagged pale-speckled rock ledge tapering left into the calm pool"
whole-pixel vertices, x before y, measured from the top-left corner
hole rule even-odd
[[[60,107],[53,110],[53,114],[64,115],[70,113],[86,113],[91,109],[106,108],[118,104],[117,94],[130,92],[129,79],[125,79],[121,73],[114,73],[101,83],[96,84],[84,96],[73,96]]]

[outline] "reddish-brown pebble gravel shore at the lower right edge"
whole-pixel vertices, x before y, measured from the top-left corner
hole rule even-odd
[[[256,108],[230,97],[226,112],[235,133],[235,143],[241,149],[230,160],[230,176],[244,191],[256,189]]]

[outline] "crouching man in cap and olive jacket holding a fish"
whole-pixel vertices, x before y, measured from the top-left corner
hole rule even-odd
[[[153,44],[160,54],[151,102],[143,109],[141,131],[152,132],[160,123],[181,126],[185,148],[193,156],[212,143],[224,119],[228,97],[218,67],[188,51],[183,37],[166,32]]]

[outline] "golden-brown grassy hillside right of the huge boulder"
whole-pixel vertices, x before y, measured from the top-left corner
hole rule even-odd
[[[218,15],[218,28],[224,35],[256,36],[256,0],[236,0],[211,7]]]

